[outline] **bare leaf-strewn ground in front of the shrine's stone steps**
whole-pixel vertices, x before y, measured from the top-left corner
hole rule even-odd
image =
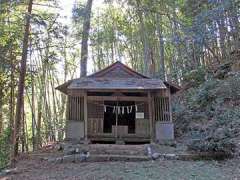
[[[116,179],[116,180],[240,180],[240,159],[225,161],[156,160],[144,162],[52,163],[44,159],[59,152],[22,155],[16,171],[0,180]]]

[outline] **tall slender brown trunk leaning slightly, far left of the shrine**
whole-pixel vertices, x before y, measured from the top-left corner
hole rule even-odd
[[[28,12],[26,15],[26,25],[24,31],[23,47],[22,47],[22,58],[20,64],[20,75],[18,82],[18,95],[17,95],[17,104],[16,104],[16,116],[15,116],[15,125],[14,125],[14,134],[13,134],[13,159],[18,155],[18,140],[19,133],[21,129],[21,120],[22,120],[22,107],[24,103],[24,86],[25,86],[25,76],[26,76],[26,64],[27,64],[27,54],[28,54],[28,39],[30,34],[30,19],[32,13],[33,0],[29,0],[28,3]]]

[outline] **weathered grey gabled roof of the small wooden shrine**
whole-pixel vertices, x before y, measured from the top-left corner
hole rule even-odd
[[[166,89],[164,82],[160,79],[151,79],[144,76],[121,62],[112,65],[87,77],[70,80],[56,89],[67,94],[68,89],[84,90],[160,90]]]

